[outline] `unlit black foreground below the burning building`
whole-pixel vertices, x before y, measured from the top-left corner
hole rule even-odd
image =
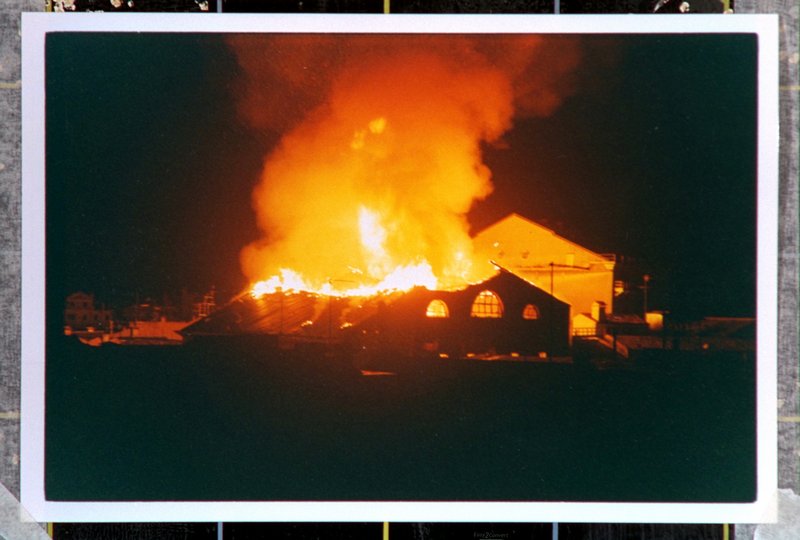
[[[745,502],[752,357],[363,376],[253,343],[50,343],[53,500]],[[442,361],[444,362],[444,361]]]

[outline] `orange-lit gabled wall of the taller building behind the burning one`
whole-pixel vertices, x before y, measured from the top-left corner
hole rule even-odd
[[[498,265],[550,291],[572,305],[573,313],[591,312],[592,303],[613,310],[614,258],[575,244],[517,214],[491,225],[473,239],[476,259]]]

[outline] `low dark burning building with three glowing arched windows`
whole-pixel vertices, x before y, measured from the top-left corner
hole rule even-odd
[[[391,357],[569,353],[570,306],[500,270],[455,291],[416,287],[373,297],[242,295],[181,331],[189,339],[273,336],[283,346],[336,343]]]

